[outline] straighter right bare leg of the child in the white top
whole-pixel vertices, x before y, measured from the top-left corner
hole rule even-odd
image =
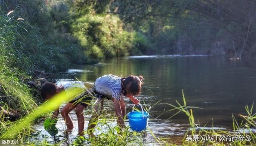
[[[77,116],[77,121],[78,121],[78,135],[83,136],[84,135],[84,106],[83,105],[78,105],[76,107],[76,116]]]

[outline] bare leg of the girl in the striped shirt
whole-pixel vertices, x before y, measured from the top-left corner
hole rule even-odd
[[[92,136],[92,130],[95,128],[96,126],[96,122],[99,118],[99,116],[101,115],[102,113],[102,109],[103,109],[103,103],[104,103],[104,100],[102,98],[98,98],[96,101],[95,101],[95,107],[94,107],[94,112],[90,118],[90,121],[89,121],[89,124],[88,124],[88,132],[89,132],[89,136]]]

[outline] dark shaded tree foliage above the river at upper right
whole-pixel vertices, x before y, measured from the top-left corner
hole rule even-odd
[[[214,49],[212,44],[224,41],[224,51],[232,57],[256,53],[256,2],[252,0],[115,0],[110,8],[135,30],[146,29],[157,46],[175,49],[185,35],[194,48]],[[171,31],[166,33],[166,28]]]

